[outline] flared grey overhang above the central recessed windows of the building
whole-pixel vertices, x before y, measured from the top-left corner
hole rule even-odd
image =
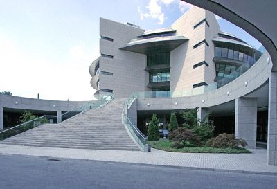
[[[159,51],[162,49],[163,51],[172,51],[186,41],[188,41],[188,38],[184,36],[154,37],[129,42],[120,49],[147,55],[148,52],[153,50]]]

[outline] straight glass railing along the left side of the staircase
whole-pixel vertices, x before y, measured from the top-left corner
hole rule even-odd
[[[0,141],[5,140],[6,138],[10,138],[11,136],[20,134],[22,132],[26,132],[29,129],[33,129],[45,123],[57,123],[57,116],[41,116],[39,118],[29,120],[25,123],[21,123],[15,127],[3,130],[2,132],[0,132]]]

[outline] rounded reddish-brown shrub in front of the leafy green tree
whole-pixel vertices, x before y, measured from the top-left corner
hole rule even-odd
[[[183,147],[186,145],[201,145],[200,138],[198,136],[195,136],[195,134],[193,134],[193,131],[182,127],[170,132],[168,138],[172,141],[175,141],[175,147],[181,147],[180,145],[182,145]]]

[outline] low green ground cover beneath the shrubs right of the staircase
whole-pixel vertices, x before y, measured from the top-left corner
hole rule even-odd
[[[172,147],[173,142],[168,139],[160,139],[159,141],[148,141],[148,144],[151,147],[165,150],[168,152],[185,152],[185,153],[223,153],[223,154],[242,154],[242,153],[251,153],[245,148],[217,148],[217,147],[184,147],[181,149],[176,149]]]

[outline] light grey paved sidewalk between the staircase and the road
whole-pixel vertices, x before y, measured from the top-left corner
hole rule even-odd
[[[54,147],[0,145],[0,154],[49,156],[55,158],[277,173],[277,166],[267,165],[267,150],[256,149],[251,151],[253,152],[252,154],[200,154],[164,152],[152,149],[152,152],[145,153],[120,150],[82,150]]]

